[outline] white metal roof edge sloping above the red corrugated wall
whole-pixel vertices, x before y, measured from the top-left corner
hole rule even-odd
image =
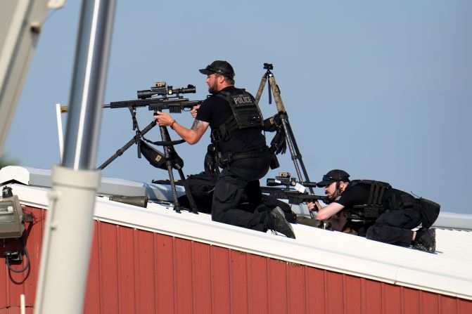
[[[16,185],[22,203],[47,201],[47,190]],[[293,225],[296,240],[211,221],[209,215],[175,213],[158,204],[148,209],[97,197],[98,221],[148,230],[197,242],[227,247],[273,259],[472,300],[472,268],[469,261],[450,259],[440,247],[438,254],[366,240],[344,233],[305,225]],[[442,233],[438,230],[438,240]],[[452,231],[449,231],[449,233]],[[457,233],[457,231],[456,231]],[[467,233],[469,234],[469,233]],[[329,243],[329,245],[327,244]],[[466,248],[469,254],[471,245]],[[466,256],[467,257],[467,256]]]

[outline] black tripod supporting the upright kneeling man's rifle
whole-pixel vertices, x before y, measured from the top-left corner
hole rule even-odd
[[[122,146],[119,150],[115,152],[113,156],[108,158],[106,162],[103,162],[101,166],[98,166],[97,169],[104,169],[108,164],[113,162],[113,160],[117,159],[117,157],[120,157],[123,155],[123,152],[125,152],[128,148],[130,148],[133,144],[138,145],[138,157],[141,158],[141,149],[139,145],[141,145],[141,140],[146,140],[143,138],[144,134],[148,133],[151,129],[153,129],[154,126],[156,126],[155,120],[148,124],[146,128],[144,128],[142,131],[139,130],[138,126],[138,121],[136,119],[136,109],[134,107],[129,107],[129,111],[131,112],[132,116],[132,121],[133,121],[133,131],[136,131],[136,135],[129,140],[125,145]],[[198,210],[195,204],[195,201],[193,200],[193,197],[191,195],[191,192],[189,191],[188,188],[186,188],[185,185],[185,176],[184,176],[184,171],[182,170],[183,162],[181,162],[181,159],[177,155],[177,152],[174,149],[174,145],[184,143],[184,140],[170,140],[170,135],[169,131],[167,131],[167,127],[165,126],[159,126],[160,129],[160,137],[162,141],[159,142],[151,142],[155,145],[161,145],[164,148],[164,156],[165,156],[165,167],[167,168],[167,172],[169,173],[169,181],[170,181],[170,188],[172,190],[172,197],[174,199],[174,211],[177,213],[180,213],[180,203],[179,199],[177,196],[177,188],[175,187],[175,181],[174,181],[174,172],[172,171],[172,168],[177,169],[179,171],[179,176],[181,179],[181,182],[184,183],[184,190],[186,196],[189,198],[189,203],[191,207],[191,211],[195,214],[198,214]],[[180,159],[180,160],[179,160]]]

